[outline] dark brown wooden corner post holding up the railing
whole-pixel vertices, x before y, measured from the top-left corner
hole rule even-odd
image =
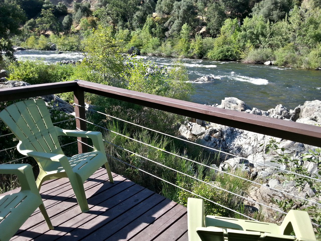
[[[86,121],[82,121],[82,120],[86,120],[85,108],[82,107],[82,106],[85,106],[85,96],[84,96],[84,92],[79,87],[77,87],[74,90],[74,103],[77,105],[81,105],[81,106],[75,105],[76,128],[77,130],[86,131],[87,130]],[[78,119],[77,117],[81,118],[82,120]],[[77,140],[79,140],[78,153],[80,154],[80,153],[88,152],[88,146],[86,145],[87,138],[78,137]]]

